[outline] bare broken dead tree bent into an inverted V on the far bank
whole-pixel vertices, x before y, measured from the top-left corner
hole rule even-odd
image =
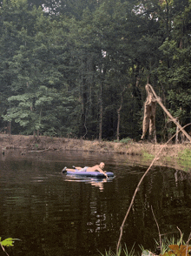
[[[163,111],[166,112],[168,118],[175,123],[175,125],[181,130],[181,132],[188,138],[191,142],[191,137],[188,135],[187,131],[182,129],[181,125],[177,121],[176,118],[170,114],[170,112],[166,109],[166,107],[161,103],[161,98],[159,98],[150,84],[145,85],[145,89],[148,92],[148,98],[145,102],[145,111],[144,111],[144,119],[142,124],[142,138],[145,138],[146,132],[149,126],[149,135],[153,136],[155,134],[155,104],[156,102],[161,105]]]

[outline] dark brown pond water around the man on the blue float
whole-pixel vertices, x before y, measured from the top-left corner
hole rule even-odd
[[[115,179],[74,179],[66,165],[104,161]],[[21,239],[10,255],[101,255],[115,252],[119,229],[147,166],[125,156],[77,152],[6,152],[0,157],[0,237]],[[154,166],[143,180],[128,215],[122,244],[155,249],[158,231],[188,239],[191,228],[191,175]],[[155,219],[151,211],[155,212]],[[1,249],[1,248],[0,248]],[[0,255],[5,255],[0,251]]]

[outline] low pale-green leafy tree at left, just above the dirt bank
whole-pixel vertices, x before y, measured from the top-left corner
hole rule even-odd
[[[40,86],[35,93],[26,92],[9,98],[10,109],[3,116],[5,120],[14,119],[24,127],[24,133],[44,135],[61,135],[61,120],[69,113],[71,98],[66,98],[65,93],[57,93],[56,89]],[[64,101],[64,104],[63,104]]]

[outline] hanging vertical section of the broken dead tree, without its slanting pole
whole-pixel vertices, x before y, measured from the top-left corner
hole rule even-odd
[[[156,112],[156,98],[153,91],[150,88],[150,84],[145,85],[145,89],[148,93],[148,97],[144,104],[144,118],[142,123],[142,139],[148,131],[148,138],[153,139],[156,142],[155,133],[155,112]],[[149,129],[148,129],[149,128]]]

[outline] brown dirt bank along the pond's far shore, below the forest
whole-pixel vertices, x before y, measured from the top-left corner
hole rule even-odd
[[[89,141],[75,138],[49,138],[23,135],[0,134],[0,149],[2,152],[7,149],[19,149],[23,154],[28,152],[40,152],[51,150],[72,150],[82,152],[102,152],[127,155],[127,158],[137,157],[149,165],[155,155],[160,151],[163,145],[151,143],[128,142],[108,142],[108,141]],[[181,168],[182,152],[190,152],[191,144],[185,145],[167,145],[162,150],[156,161],[157,165],[178,165]],[[182,169],[182,168],[181,168]]]

